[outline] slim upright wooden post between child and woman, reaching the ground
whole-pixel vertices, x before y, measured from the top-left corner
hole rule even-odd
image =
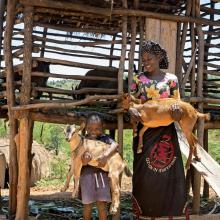
[[[127,0],[123,0],[123,7],[127,8]],[[119,63],[119,70],[118,70],[118,94],[122,95],[123,93],[123,74],[125,68],[125,57],[126,57],[126,48],[127,48],[127,16],[122,17],[122,45],[121,45],[121,58]],[[118,104],[120,107],[120,103]],[[118,113],[118,144],[119,144],[119,153],[123,156],[123,114]],[[120,178],[121,179],[121,178]],[[121,183],[120,183],[121,184]],[[112,217],[112,220],[119,220],[120,219],[120,209]]]

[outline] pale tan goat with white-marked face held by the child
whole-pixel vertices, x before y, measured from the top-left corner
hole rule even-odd
[[[71,168],[67,175],[67,180],[61,191],[66,191],[69,187],[70,179],[73,176],[74,189],[73,197],[79,187],[79,178],[82,169],[82,155],[85,151],[88,151],[92,155],[92,160],[88,163],[91,166],[98,167],[97,158],[100,157],[110,146],[104,142],[97,140],[90,140],[83,138],[79,135],[79,131],[82,129],[76,129],[74,125],[68,125],[65,130],[66,139],[70,142],[71,151]],[[125,171],[127,176],[132,176],[127,164],[122,160],[120,154],[115,152],[108,160],[104,167],[100,167],[102,170],[108,172],[111,187],[112,203],[110,207],[110,213],[115,214],[120,204],[120,184],[119,176]]]

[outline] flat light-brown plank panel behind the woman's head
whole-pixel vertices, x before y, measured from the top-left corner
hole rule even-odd
[[[170,65],[167,72],[175,74],[177,23],[146,18],[145,39],[160,43],[168,53]]]

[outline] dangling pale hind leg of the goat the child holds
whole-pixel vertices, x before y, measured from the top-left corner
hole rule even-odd
[[[116,171],[118,174],[118,171]],[[110,206],[110,214],[115,215],[119,208],[120,203],[120,185],[119,185],[119,176],[114,173],[109,174],[111,194],[112,194],[112,203]]]

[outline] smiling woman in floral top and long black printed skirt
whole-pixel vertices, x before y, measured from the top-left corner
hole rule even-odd
[[[147,41],[141,49],[143,72],[135,75],[132,94],[143,101],[156,98],[179,99],[178,80],[174,74],[163,72],[168,68],[166,51]],[[175,121],[181,119],[181,110],[173,105],[170,110]],[[138,125],[138,129],[141,125]],[[183,214],[186,205],[186,187],[182,157],[174,124],[148,129],[143,136],[143,152],[137,154],[138,137],[133,140],[133,198],[136,219],[139,216],[156,217]]]

